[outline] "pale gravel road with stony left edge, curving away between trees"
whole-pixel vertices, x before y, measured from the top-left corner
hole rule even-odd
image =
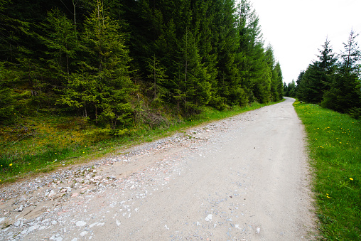
[[[2,186],[0,240],[313,240],[293,101]]]

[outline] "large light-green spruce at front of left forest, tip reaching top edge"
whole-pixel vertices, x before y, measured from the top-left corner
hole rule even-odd
[[[130,92],[134,85],[129,78],[128,50],[119,33],[119,25],[97,0],[95,10],[85,19],[82,35],[85,59],[72,74],[59,102],[82,108],[95,122],[117,124],[130,121]]]

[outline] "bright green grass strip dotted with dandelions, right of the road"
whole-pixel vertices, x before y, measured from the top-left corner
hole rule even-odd
[[[308,136],[322,240],[361,240],[361,122],[295,102]]]

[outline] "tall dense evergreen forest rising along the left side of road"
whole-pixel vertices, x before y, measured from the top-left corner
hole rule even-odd
[[[281,66],[242,0],[5,0],[0,122],[60,112],[114,128],[281,100]]]

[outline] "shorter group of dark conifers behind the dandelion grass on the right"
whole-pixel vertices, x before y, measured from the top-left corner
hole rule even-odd
[[[285,95],[361,117],[361,52],[357,36],[354,31],[350,32],[340,54],[333,53],[330,41],[326,39],[317,55],[318,60],[308,65],[306,71],[301,71],[296,83],[284,83]]]

